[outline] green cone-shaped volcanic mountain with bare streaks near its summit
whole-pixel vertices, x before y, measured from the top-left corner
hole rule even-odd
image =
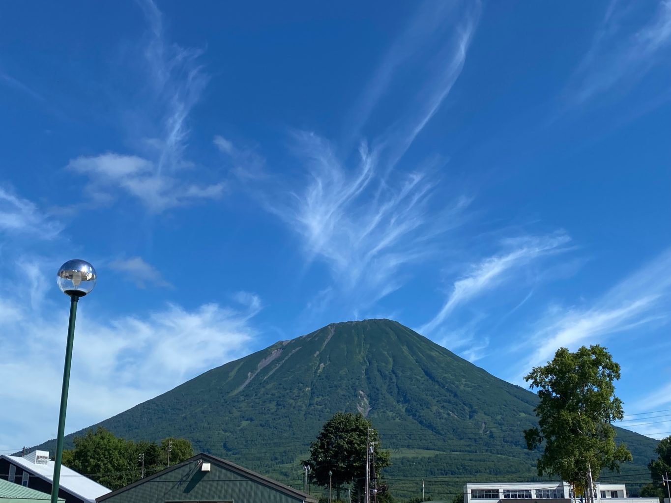
[[[198,451],[302,487],[300,460],[321,425],[358,410],[391,449],[394,494],[416,496],[424,478],[427,495],[442,499],[467,481],[535,477],[537,453],[522,431],[536,423],[536,403],[395,321],[366,320],[280,341],[100,424],[135,440],[186,437]],[[634,462],[612,480],[646,480],[656,441],[618,437]]]

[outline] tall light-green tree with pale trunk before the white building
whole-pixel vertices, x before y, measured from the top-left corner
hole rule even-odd
[[[619,378],[620,366],[599,345],[575,353],[561,347],[546,366],[525,376],[540,398],[538,427],[524,432],[529,449],[544,444],[538,475],[560,476],[585,488],[590,502],[601,470],[619,471],[620,463],[632,459],[625,445],[615,443],[611,425],[624,415],[613,384]]]

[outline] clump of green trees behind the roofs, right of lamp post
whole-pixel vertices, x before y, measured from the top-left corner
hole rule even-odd
[[[62,462],[95,482],[116,490],[140,480],[143,461],[145,476],[166,467],[168,447],[171,465],[193,456],[191,442],[186,439],[136,443],[98,427],[82,437],[75,437],[74,449],[63,451]]]

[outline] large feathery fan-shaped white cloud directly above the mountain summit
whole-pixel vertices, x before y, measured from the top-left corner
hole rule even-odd
[[[403,267],[435,252],[436,239],[460,223],[469,203],[460,197],[429,213],[435,180],[421,171],[382,178],[365,146],[354,172],[313,133],[297,134],[297,152],[309,182],[266,207],[301,236],[309,260],[325,262],[340,286],[370,302],[399,288]]]

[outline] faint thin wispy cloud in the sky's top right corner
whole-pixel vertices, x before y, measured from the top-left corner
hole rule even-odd
[[[643,23],[632,11],[655,5]],[[671,50],[671,1],[637,4],[612,1],[592,46],[576,68],[567,93],[584,103],[601,93],[639,80]]]

